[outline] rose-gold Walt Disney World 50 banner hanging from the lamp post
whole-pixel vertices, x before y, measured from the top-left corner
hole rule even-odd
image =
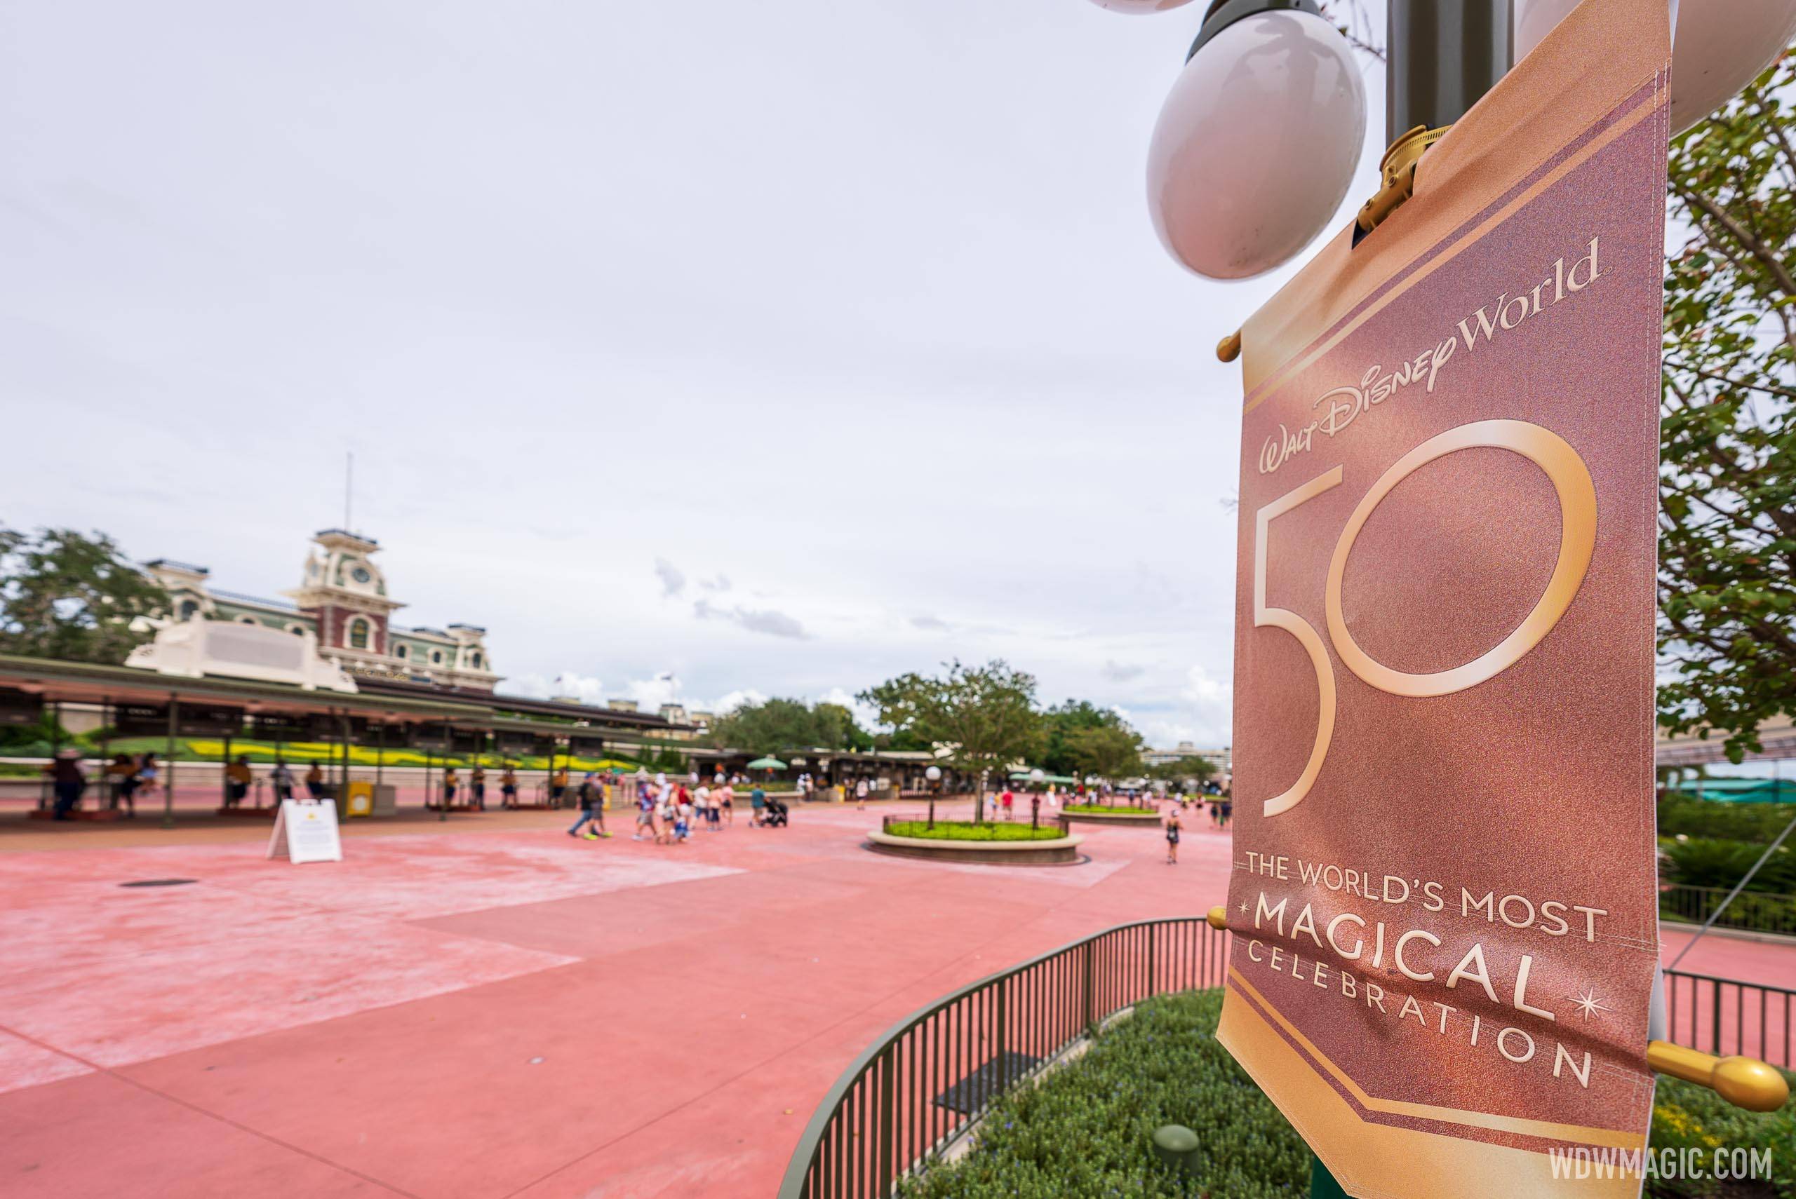
[[[1588,0],[1243,328],[1221,1039],[1354,1195],[1640,1186],[1668,59]]]

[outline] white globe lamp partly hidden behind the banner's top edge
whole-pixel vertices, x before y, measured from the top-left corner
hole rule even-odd
[[[1516,59],[1537,47],[1577,0],[1516,0]],[[1672,32],[1672,133],[1740,93],[1796,41],[1796,0],[1679,0]]]

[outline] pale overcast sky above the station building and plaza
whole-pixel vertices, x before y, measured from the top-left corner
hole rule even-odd
[[[399,619],[505,689],[1004,657],[1227,743],[1212,348],[1281,276],[1148,223],[1202,9],[0,5],[0,521],[275,594],[354,451]]]

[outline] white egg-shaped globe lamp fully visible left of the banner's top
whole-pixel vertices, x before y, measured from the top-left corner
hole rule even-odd
[[[1205,278],[1263,275],[1334,219],[1363,142],[1360,65],[1315,0],[1216,0],[1148,144],[1153,228]]]

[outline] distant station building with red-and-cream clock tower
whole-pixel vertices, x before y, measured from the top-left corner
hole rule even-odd
[[[264,600],[212,587],[212,571],[156,558],[144,569],[167,589],[174,621],[235,621],[289,634],[311,632],[318,653],[352,677],[433,682],[492,691],[501,675],[487,655],[480,625],[408,628],[392,621],[406,607],[388,598],[386,574],[374,564],[381,544],[345,529],[323,529],[305,555],[305,576],[286,600]]]

